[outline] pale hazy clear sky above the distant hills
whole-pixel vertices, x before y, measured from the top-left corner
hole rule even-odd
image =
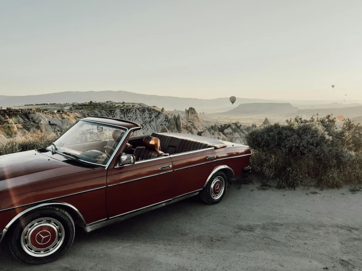
[[[362,99],[362,0],[0,0],[0,95],[85,90]]]

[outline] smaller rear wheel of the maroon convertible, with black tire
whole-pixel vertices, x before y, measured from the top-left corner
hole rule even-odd
[[[217,183],[220,185],[220,189],[217,191]],[[215,204],[219,203],[225,195],[227,186],[227,178],[225,173],[222,171],[217,171],[210,180],[207,182],[206,186],[199,193],[200,199],[204,203]]]

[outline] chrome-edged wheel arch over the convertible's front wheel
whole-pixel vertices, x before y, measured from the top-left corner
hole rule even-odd
[[[19,221],[25,214],[31,212],[31,211],[35,211],[39,208],[42,207],[60,207],[62,209],[64,209],[65,211],[67,211],[74,223],[78,222],[77,225],[85,228],[85,219],[82,216],[82,214],[79,212],[79,210],[73,206],[72,204],[69,203],[63,203],[63,202],[49,202],[49,203],[41,203],[41,204],[37,204],[34,206],[31,206],[29,208],[26,208],[25,210],[21,211],[19,214],[17,214],[6,226],[5,228],[2,230],[2,235],[0,236],[0,242],[2,241],[2,239],[4,238],[5,234],[7,231],[9,231],[9,229],[11,228],[11,226],[15,225],[15,222]]]

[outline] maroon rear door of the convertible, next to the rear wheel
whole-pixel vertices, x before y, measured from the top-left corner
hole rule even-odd
[[[172,161],[173,197],[201,190],[215,168],[216,152],[207,148],[170,156]]]

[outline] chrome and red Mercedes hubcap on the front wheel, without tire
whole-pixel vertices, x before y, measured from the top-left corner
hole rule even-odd
[[[63,241],[63,225],[56,219],[48,217],[29,223],[21,237],[24,251],[34,257],[45,257],[54,253]]]

